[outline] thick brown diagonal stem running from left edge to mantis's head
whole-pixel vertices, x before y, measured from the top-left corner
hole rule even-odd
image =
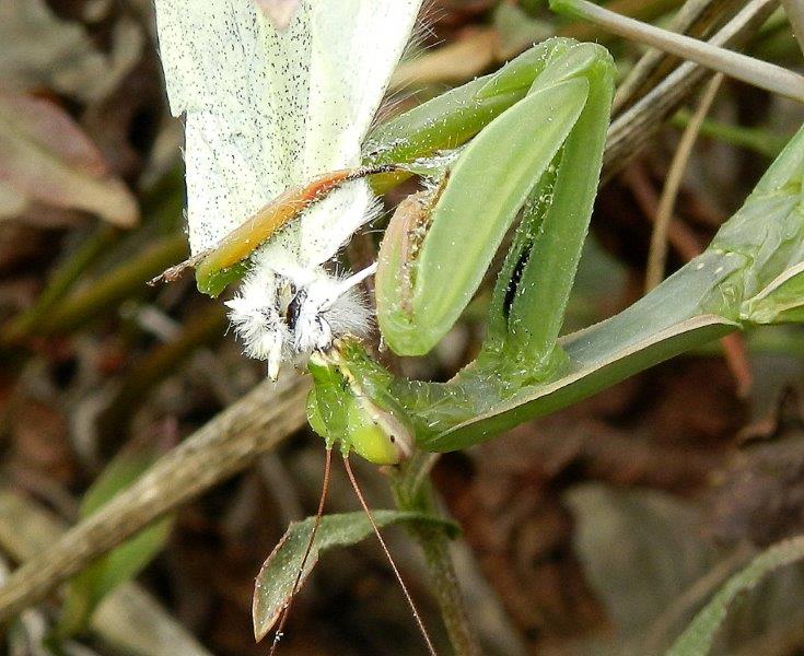
[[[0,623],[38,602],[143,526],[276,448],[306,421],[310,383],[264,380],[160,458],[137,482],[79,522],[0,587]]]

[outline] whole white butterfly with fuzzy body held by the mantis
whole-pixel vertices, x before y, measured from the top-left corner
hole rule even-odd
[[[155,0],[171,109],[185,114],[187,218],[195,255],[268,201],[325,172],[360,165],[360,147],[422,0],[302,0],[278,30],[257,0]],[[324,267],[376,213],[365,180],[308,208],[252,257],[229,301],[247,354],[301,361],[370,313],[351,278]]]

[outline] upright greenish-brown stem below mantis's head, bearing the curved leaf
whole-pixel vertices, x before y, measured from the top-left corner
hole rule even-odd
[[[435,513],[436,504],[428,471],[436,457],[434,454],[418,452],[403,473],[394,480],[392,490],[400,511]],[[424,553],[433,593],[439,601],[441,618],[455,654],[479,656],[482,652],[466,613],[446,534],[440,528],[423,526],[411,527],[410,532]]]

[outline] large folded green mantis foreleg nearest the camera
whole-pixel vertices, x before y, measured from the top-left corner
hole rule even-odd
[[[549,359],[597,190],[613,94],[613,62],[596,45],[559,43],[526,96],[465,149],[429,215],[392,221],[380,255],[377,317],[397,353],[428,352],[477,291],[517,213],[488,349]],[[501,71],[477,90],[500,93]],[[509,82],[510,83],[510,82]],[[404,244],[416,243],[415,248]],[[528,289],[525,301],[518,292]],[[513,352],[512,351],[512,352]]]

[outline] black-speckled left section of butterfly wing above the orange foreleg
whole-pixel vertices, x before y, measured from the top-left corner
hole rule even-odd
[[[187,219],[203,250],[295,183],[310,15],[278,32],[249,0],[156,0],[171,110],[185,114]]]

